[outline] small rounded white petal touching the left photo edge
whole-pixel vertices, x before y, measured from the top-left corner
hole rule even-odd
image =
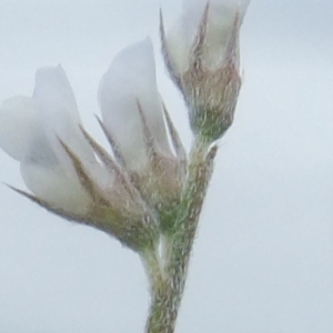
[[[38,109],[30,98],[6,100],[0,110],[0,147],[12,158],[22,160],[29,149]]]

